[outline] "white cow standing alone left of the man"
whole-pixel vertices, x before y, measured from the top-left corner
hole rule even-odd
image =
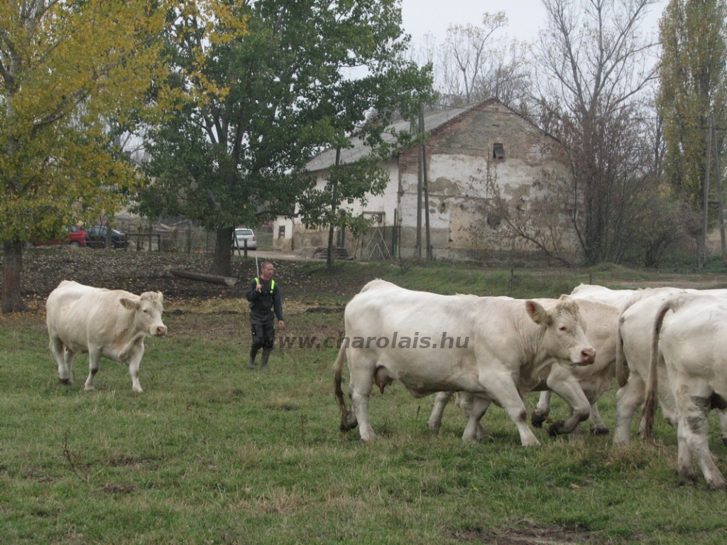
[[[144,338],[166,335],[161,322],[163,299],[157,292],[134,295],[63,280],[46,302],[50,349],[60,381],[73,383],[73,359],[79,352],[88,352],[90,372],[84,390],[94,389],[93,379],[103,356],[116,363],[129,362],[132,387],[142,391],[139,364]]]

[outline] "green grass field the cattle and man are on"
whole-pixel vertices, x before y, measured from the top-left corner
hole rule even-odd
[[[335,274],[369,271],[357,267]],[[653,280],[621,269],[598,275],[593,282],[623,287]],[[478,292],[517,297],[588,281],[573,271],[446,266],[390,266],[377,276],[447,293],[478,282]],[[287,333],[340,335],[346,299],[286,301]],[[432,434],[433,399],[394,384],[371,399],[381,439],[366,445],[358,430],[338,429],[335,349],[288,346],[273,353],[269,373],[248,370],[244,309],[170,301],[169,336],[146,343],[143,394],[108,360],[97,390],[84,392],[87,357],[63,386],[42,309],[0,317],[0,544],[727,542],[727,496],[680,482],[676,435],[661,420],[659,447],[634,439],[614,448],[582,426],[576,437],[536,430],[542,446],[526,448],[492,407],[489,439],[472,446],[460,438],[457,407]],[[529,406],[536,400],[531,394]],[[612,428],[613,389],[600,406]],[[556,401],[554,413],[566,409]],[[727,472],[715,418],[710,447]]]

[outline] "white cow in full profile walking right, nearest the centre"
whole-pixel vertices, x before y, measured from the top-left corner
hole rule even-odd
[[[476,441],[492,399],[507,410],[522,444],[537,445],[521,393],[539,382],[539,371],[553,359],[575,367],[593,364],[595,357],[578,305],[567,297],[538,302],[436,295],[374,280],[346,306],[345,327],[334,365],[341,429],[358,425],[364,441],[377,437],[369,423],[373,384],[383,388],[398,380],[414,397],[469,391],[487,399],[473,407],[462,436],[467,442]],[[345,357],[351,410],[341,389]]]

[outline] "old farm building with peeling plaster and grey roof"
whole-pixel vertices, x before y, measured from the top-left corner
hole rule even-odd
[[[409,121],[393,126],[409,127]],[[337,244],[361,259],[412,258],[419,251],[425,256],[428,212],[434,258],[492,259],[536,252],[534,244],[506,228],[494,197],[499,194],[501,204],[522,212],[542,196],[544,172],[565,178],[568,170],[559,159],[558,141],[494,99],[425,114],[425,130],[428,207],[419,231],[422,246],[417,245],[418,146],[401,149],[382,164],[389,172],[382,195],[370,196],[366,207],[342,206],[348,213],[373,218],[374,223],[363,239],[338,233]],[[341,162],[355,162],[369,151],[354,140],[352,148],[342,150]],[[335,156],[336,151],[329,149],[308,163],[318,185],[325,185]],[[555,218],[555,223],[561,225],[561,244],[574,247],[563,218]],[[278,218],[273,231],[273,244],[279,250],[326,247],[327,241],[327,229],[305,228],[298,218]]]

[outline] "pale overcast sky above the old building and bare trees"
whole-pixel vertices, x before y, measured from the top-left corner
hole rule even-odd
[[[657,31],[657,23],[668,1],[660,0],[651,7],[646,31]],[[449,25],[481,25],[482,14],[504,11],[508,25],[507,36],[518,40],[534,41],[545,20],[545,9],[540,0],[402,0],[403,28],[411,34],[416,47],[422,44],[426,33],[435,36],[437,44],[444,40]]]

